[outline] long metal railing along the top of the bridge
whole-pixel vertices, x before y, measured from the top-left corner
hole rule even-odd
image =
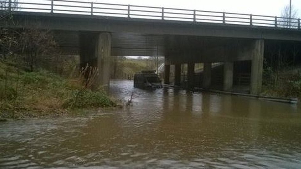
[[[12,12],[26,11],[47,12],[51,14],[84,14],[108,17],[269,26],[301,30],[299,18],[111,3],[80,2],[72,0],[19,0],[18,2],[14,2],[13,0],[2,0],[0,2],[1,10],[9,10]]]

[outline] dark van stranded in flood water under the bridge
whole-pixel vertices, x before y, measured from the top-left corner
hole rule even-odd
[[[144,89],[162,88],[162,81],[155,70],[142,70],[134,75],[134,87]]]

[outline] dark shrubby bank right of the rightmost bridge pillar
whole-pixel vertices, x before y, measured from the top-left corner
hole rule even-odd
[[[262,95],[301,99],[300,45],[294,41],[266,40]]]

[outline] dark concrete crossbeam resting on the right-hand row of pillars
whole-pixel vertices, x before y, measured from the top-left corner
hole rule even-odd
[[[219,42],[216,39],[216,43]],[[189,48],[193,43],[185,43],[178,50],[168,51],[167,64],[200,63],[200,62],[233,62],[252,60],[254,40],[231,40],[219,45],[208,43],[203,46]]]

